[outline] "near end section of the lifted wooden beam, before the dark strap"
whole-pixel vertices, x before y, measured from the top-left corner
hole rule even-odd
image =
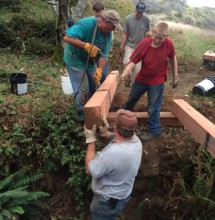
[[[84,106],[85,125],[91,128],[94,124],[100,126],[103,124],[102,117],[107,117],[110,109],[110,100],[108,91],[97,91]]]

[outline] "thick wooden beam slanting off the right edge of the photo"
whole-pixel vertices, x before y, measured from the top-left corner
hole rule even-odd
[[[174,99],[172,113],[215,158],[215,125],[183,99]]]

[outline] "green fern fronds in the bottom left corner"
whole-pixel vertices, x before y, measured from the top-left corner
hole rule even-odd
[[[43,217],[43,210],[49,207],[39,199],[49,194],[28,190],[29,184],[35,183],[42,177],[42,173],[29,175],[22,169],[0,180],[0,219],[16,219],[16,216],[26,219]]]

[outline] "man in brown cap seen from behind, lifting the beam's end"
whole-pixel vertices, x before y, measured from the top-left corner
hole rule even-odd
[[[100,152],[95,151],[96,126],[85,128],[87,152],[86,172],[92,175],[92,220],[115,220],[128,203],[142,158],[142,143],[135,135],[135,113],[120,109],[114,133],[108,131],[108,122],[99,127],[99,135],[108,141]]]

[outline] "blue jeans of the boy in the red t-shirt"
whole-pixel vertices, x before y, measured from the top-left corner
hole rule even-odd
[[[160,135],[161,133],[161,126],[160,126],[160,111],[161,111],[161,104],[163,98],[163,90],[164,90],[164,83],[159,85],[145,85],[143,83],[139,83],[136,80],[134,81],[128,101],[125,104],[125,109],[133,111],[134,106],[141,98],[142,95],[147,92],[148,98],[148,130],[149,132],[153,133],[154,135]]]

